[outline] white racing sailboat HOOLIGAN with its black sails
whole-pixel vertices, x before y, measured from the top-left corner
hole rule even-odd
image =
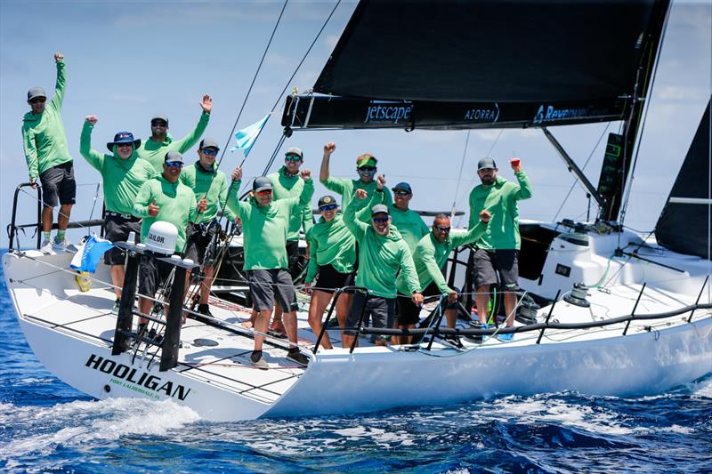
[[[241,324],[250,309],[232,301],[212,298],[214,317],[190,312],[181,325],[185,309],[174,298],[166,317],[152,321],[162,341],[134,332],[140,246],[118,244],[129,255],[118,315],[110,311],[107,268],[100,265],[82,291],[71,255],[12,248],[4,275],[30,347],[53,374],[94,398],[168,398],[215,421],[560,390],[651,394],[706,376],[710,240],[700,215],[712,204],[709,104],[661,213],[658,241],[618,222],[668,9],[666,1],[364,1],[313,91],[287,97],[287,136],[376,127],[546,133],[600,212],[595,221],[522,222],[521,286],[533,301],[513,328],[441,327],[435,303],[423,315],[432,312],[426,320],[434,324],[412,331],[422,338],[416,344],[372,346],[369,335],[397,331],[360,326],[359,348],[323,350],[323,334],[312,333],[300,311],[309,366],[295,366],[286,342],[268,337],[269,369],[259,370],[249,362],[255,332]],[[546,127],[603,121],[624,127],[609,137],[595,187]],[[468,254],[453,255],[450,278],[457,269],[462,276]],[[172,294],[180,295],[192,264],[169,260]],[[338,328],[324,326],[338,341]],[[441,338],[453,333],[468,337],[463,348]],[[498,333],[515,337],[500,341]]]

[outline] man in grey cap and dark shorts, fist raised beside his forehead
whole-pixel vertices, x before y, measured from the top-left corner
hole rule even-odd
[[[383,189],[384,181],[379,180],[379,189]],[[376,195],[378,193],[374,193]],[[401,233],[391,226],[391,216],[388,206],[383,204],[373,205],[380,200],[379,196],[372,196],[370,203],[366,199],[367,192],[357,189],[356,198],[344,212],[344,222],[351,230],[353,237],[359,244],[359,274],[356,277],[356,286],[368,289],[368,298],[363,293],[356,293],[353,297],[351,311],[346,317],[346,326],[353,327],[359,324],[363,311],[366,320],[372,318],[374,327],[392,327],[395,318],[396,286],[395,279],[400,270],[411,295],[413,304],[423,304],[423,294],[420,293],[420,284],[417,279],[416,267],[410,255],[408,244],[405,243]],[[371,209],[371,223],[367,224],[356,219],[356,213],[365,205]],[[344,347],[350,347],[353,338],[358,338],[354,331],[344,334]],[[374,337],[376,345],[385,346],[387,341],[382,335]],[[358,345],[358,339],[356,341]]]

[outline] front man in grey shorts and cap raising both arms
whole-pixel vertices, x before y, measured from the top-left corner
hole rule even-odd
[[[299,365],[306,366],[306,358],[296,344],[296,294],[292,277],[287,271],[287,232],[294,214],[301,215],[303,206],[308,205],[314,194],[312,172],[302,170],[299,176],[304,181],[299,197],[286,197],[275,201],[274,187],[269,178],[260,176],[252,185],[254,196],[246,201],[239,201],[237,192],[228,197],[228,208],[242,221],[244,235],[245,266],[252,293],[255,318],[255,347],[250,360],[257,368],[269,367],[263,356],[264,333],[270,325],[274,301],[284,309],[284,325],[290,347],[287,358]],[[232,173],[239,189],[242,169]]]

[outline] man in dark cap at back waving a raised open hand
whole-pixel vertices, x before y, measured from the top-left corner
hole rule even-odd
[[[174,141],[171,134],[168,133],[168,117],[166,115],[157,114],[150,119],[150,137],[142,142],[138,153],[140,158],[156,168],[156,173],[163,173],[163,157],[166,156],[166,152],[185,153],[198,143],[203,132],[206,131],[207,122],[210,120],[210,111],[213,109],[213,100],[209,95],[203,96],[200,108],[203,109],[203,113],[200,115],[195,130],[178,141]]]

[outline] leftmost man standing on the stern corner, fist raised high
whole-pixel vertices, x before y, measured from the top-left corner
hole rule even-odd
[[[36,181],[42,183],[42,236],[43,253],[71,250],[72,245],[65,237],[69,225],[69,215],[77,197],[77,183],[74,181],[74,163],[69,155],[67,137],[61,122],[61,105],[64,100],[64,56],[54,53],[57,65],[57,85],[52,101],[47,104],[47,95],[42,87],[32,87],[28,91],[30,111],[22,117],[22,143],[28,162],[29,182],[36,188]],[[57,216],[57,235],[51,240],[53,209],[60,205]],[[69,248],[68,248],[69,247]]]

